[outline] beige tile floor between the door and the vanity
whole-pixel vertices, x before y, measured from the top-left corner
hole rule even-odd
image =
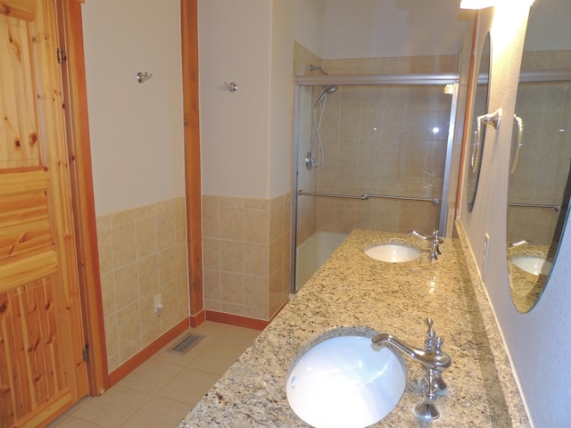
[[[170,351],[188,333],[203,335],[186,354]],[[260,332],[205,321],[138,366],[100,397],[88,397],[48,428],[174,428]]]

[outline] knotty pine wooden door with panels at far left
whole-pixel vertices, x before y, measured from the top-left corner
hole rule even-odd
[[[87,395],[54,0],[0,0],[0,428]]]

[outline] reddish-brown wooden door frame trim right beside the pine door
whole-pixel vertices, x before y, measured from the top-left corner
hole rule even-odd
[[[107,351],[103,325],[103,301],[99,251],[95,224],[93,170],[87,118],[87,83],[83,46],[81,2],[56,2],[60,20],[60,43],[66,60],[62,62],[66,132],[70,157],[71,187],[75,219],[79,286],[85,340],[89,343],[90,395],[109,388]]]

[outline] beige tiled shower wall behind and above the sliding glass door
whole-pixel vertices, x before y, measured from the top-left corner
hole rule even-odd
[[[330,75],[458,72],[459,57],[420,56],[324,60],[295,45],[297,74],[321,65]],[[315,73],[316,71],[314,71]],[[298,188],[337,194],[440,197],[451,95],[442,86],[344,86],[328,95],[321,136],[326,167],[305,169],[312,134],[312,106],[320,89],[300,90]],[[440,128],[434,133],[434,128]],[[456,150],[459,152],[459,150]],[[457,156],[459,161],[459,156]],[[442,203],[442,202],[441,202]],[[446,202],[444,202],[446,203]],[[298,197],[297,243],[316,231],[349,233],[355,227],[430,233],[440,205],[370,199]]]

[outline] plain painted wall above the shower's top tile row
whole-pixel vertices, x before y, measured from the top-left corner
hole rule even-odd
[[[458,54],[458,0],[326,0],[324,59]]]

